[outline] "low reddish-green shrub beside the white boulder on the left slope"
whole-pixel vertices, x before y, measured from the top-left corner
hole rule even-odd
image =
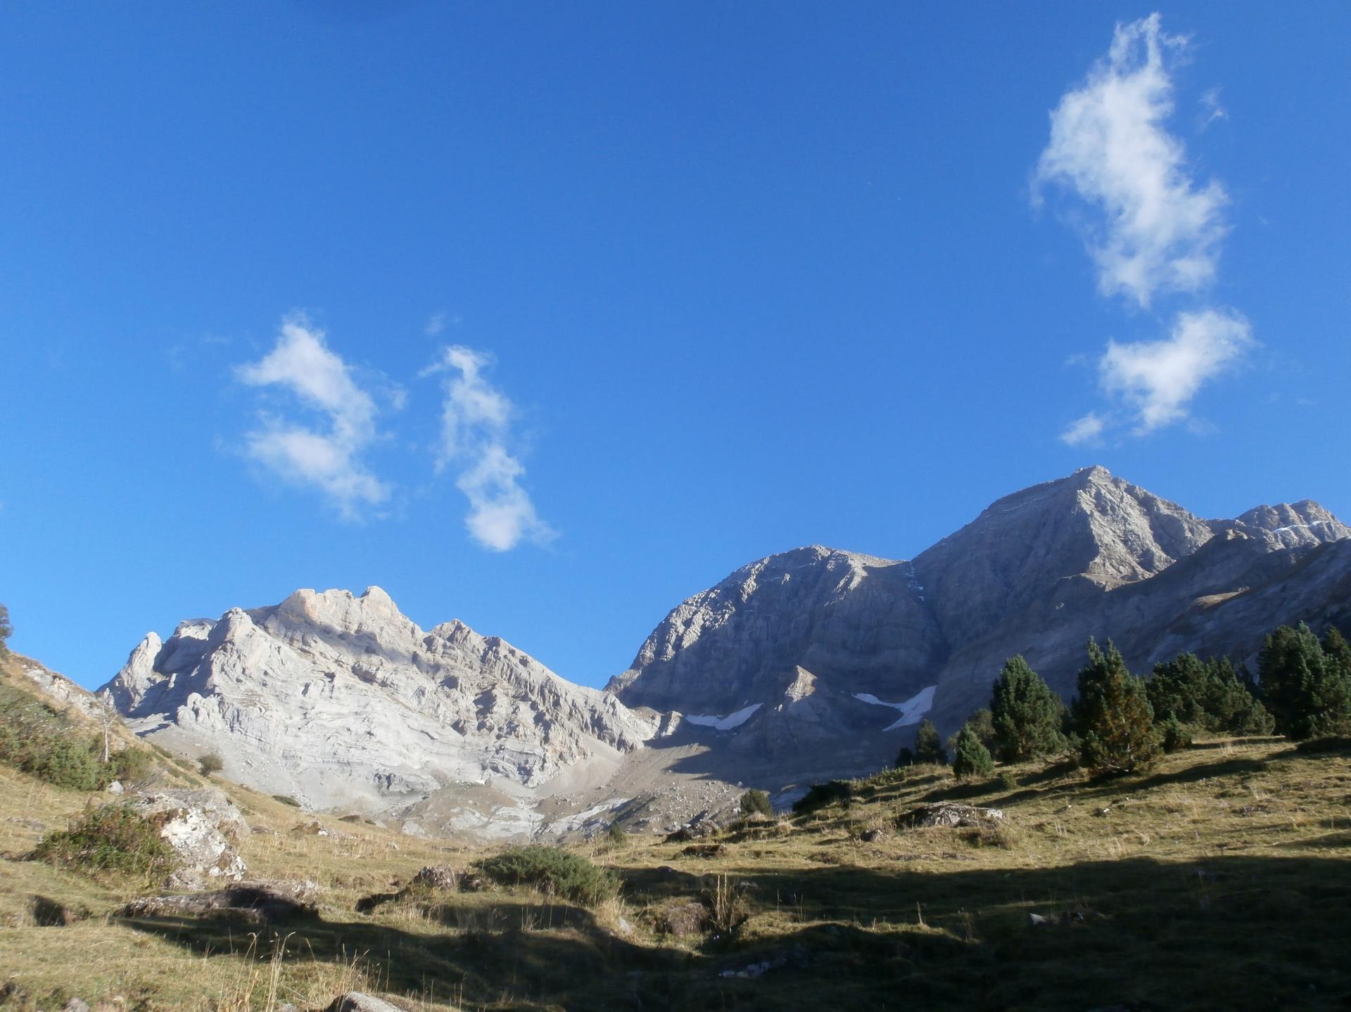
[[[85,809],[68,830],[45,836],[34,857],[59,867],[146,880],[166,876],[176,865],[173,847],[159,836],[159,827],[131,805]]]

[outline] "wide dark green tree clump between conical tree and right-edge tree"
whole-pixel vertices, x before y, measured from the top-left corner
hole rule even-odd
[[[1146,685],[1161,726],[1175,717],[1216,734],[1270,734],[1271,716],[1254,689],[1251,678],[1239,674],[1227,657],[1201,661],[1196,654],[1155,665]]]

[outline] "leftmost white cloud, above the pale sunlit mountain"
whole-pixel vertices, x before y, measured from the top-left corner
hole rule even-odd
[[[389,499],[390,488],[362,462],[376,438],[374,399],[304,316],[281,323],[277,345],[258,362],[238,366],[250,386],[280,386],[326,422],[322,428],[262,413],[245,436],[245,453],[285,481],[319,488],[349,520]]]

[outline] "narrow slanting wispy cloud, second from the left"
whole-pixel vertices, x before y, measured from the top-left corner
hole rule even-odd
[[[486,354],[455,345],[423,376],[444,376],[436,469],[459,466],[455,486],[469,500],[470,536],[485,549],[508,551],[521,540],[547,543],[557,534],[520,484],[526,469],[512,449],[516,409],[484,377],[490,365]]]

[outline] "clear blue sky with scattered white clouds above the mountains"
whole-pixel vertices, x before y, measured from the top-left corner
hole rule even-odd
[[[1351,7],[367,7],[0,8],[16,650],[378,584],[600,685],[1088,463],[1351,516]]]

